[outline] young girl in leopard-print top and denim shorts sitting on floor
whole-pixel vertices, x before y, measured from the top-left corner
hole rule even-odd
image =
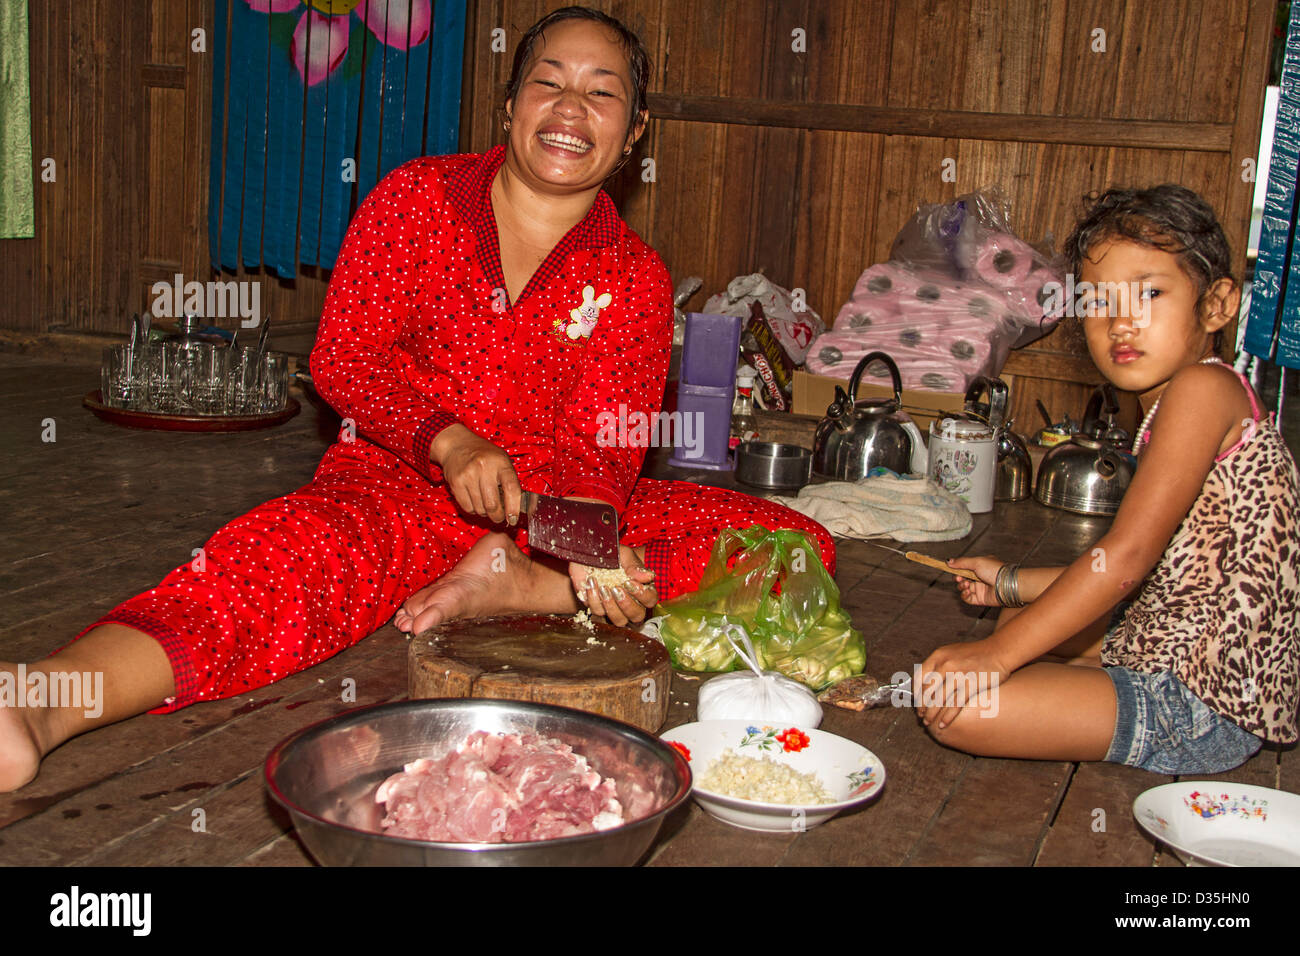
[[[1216,358],[1240,300],[1227,241],[1200,196],[1166,185],[1105,193],[1066,252],[1091,284],[1092,359],[1145,411],[1139,467],[1110,531],[1069,567],[949,562],[979,575],[957,579],[963,601],[1008,609],[989,637],[926,659],[918,711],[971,753],[1230,770],[1296,739],[1300,480],[1249,384]],[[987,698],[971,672],[997,683]]]

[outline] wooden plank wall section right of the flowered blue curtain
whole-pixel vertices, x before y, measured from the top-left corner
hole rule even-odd
[[[514,44],[547,0],[471,5],[462,142],[502,140]],[[706,293],[764,271],[833,317],[918,204],[989,183],[1031,241],[1084,194],[1184,183],[1219,211],[1240,274],[1274,0],[592,0],[654,59],[654,121],[611,193]],[[507,53],[491,52],[504,27]],[[806,52],[792,49],[805,30]],[[1105,52],[1093,51],[1105,31]],[[945,159],[956,179],[945,182]],[[701,306],[703,297],[692,304]],[[1082,411],[1100,376],[1070,320],[1008,363],[1015,415]]]

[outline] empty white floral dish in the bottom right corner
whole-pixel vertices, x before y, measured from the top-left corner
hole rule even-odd
[[[1188,866],[1300,866],[1300,795],[1179,780],[1134,800],[1134,818]]]

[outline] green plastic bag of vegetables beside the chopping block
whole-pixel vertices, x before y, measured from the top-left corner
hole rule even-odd
[[[862,635],[840,607],[840,589],[816,544],[803,532],[755,524],[718,536],[699,588],[662,602],[659,636],[672,665],[686,671],[741,666],[724,636],[741,624],[758,663],[814,691],[861,674]]]

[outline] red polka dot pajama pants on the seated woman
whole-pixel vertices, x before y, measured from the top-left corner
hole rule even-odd
[[[623,520],[623,542],[646,545],[660,598],[696,587],[728,527],[810,532],[835,572],[820,524],[737,492],[641,479]],[[91,627],[120,623],[159,640],[176,696],[155,713],[168,713],[264,687],[351,646],[489,531],[462,516],[446,485],[400,459],[335,445],[308,485],[230,522],[192,562]],[[526,535],[517,540],[526,550]]]

